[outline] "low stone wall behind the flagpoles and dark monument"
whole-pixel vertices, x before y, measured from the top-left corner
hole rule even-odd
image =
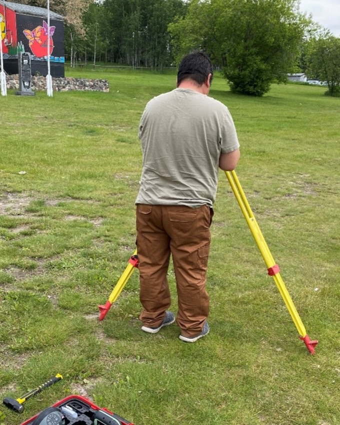
[[[30,80],[31,89],[46,90],[46,77],[32,76]],[[6,86],[7,89],[19,90],[19,76],[18,75],[6,75]],[[108,81],[107,80],[92,80],[85,78],[55,78],[52,77],[53,91],[67,92],[71,90],[90,90],[108,92]]]

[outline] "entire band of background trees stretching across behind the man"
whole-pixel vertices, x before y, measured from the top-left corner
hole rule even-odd
[[[46,0],[17,0],[46,7]],[[230,90],[253,96],[305,72],[340,96],[340,39],[299,0],[50,0],[65,17],[65,57],[162,70],[207,52]]]

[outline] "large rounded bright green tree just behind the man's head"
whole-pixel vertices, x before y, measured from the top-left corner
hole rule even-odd
[[[204,49],[235,93],[262,96],[286,81],[309,19],[295,0],[192,0],[169,26],[176,55]]]

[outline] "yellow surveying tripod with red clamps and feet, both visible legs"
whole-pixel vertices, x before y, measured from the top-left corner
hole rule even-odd
[[[242,190],[242,187],[238,181],[238,178],[236,176],[235,171],[225,171],[226,178],[229,181],[229,184],[231,186],[231,189],[233,191],[233,194],[236,197],[236,200],[238,202],[239,207],[241,208],[242,214],[245,218],[245,221],[250,229],[250,232],[256,242],[257,248],[259,249],[259,252],[261,253],[263,260],[265,262],[265,265],[267,266],[267,272],[269,276],[272,276],[275,284],[278,288],[279,293],[281,294],[281,297],[283,298],[283,301],[288,309],[288,312],[296,326],[296,329],[299,333],[299,338],[304,342],[305,346],[307,347],[307,350],[314,354],[314,348],[318,341],[311,341],[305,331],[305,328],[303,326],[303,323],[296,311],[296,308],[290,298],[290,295],[281,279],[281,276],[279,274],[280,269],[278,265],[275,263],[269,248],[263,238],[263,235],[260,231],[260,228],[254,218],[254,215],[252,214],[250,205],[245,197],[245,194]],[[105,305],[99,305],[99,311],[100,316],[99,320],[103,320],[108,310],[111,308],[112,303],[118,298],[120,292],[122,291],[124,285],[130,278],[134,268],[138,267],[138,258],[137,258],[137,251],[135,251],[132,255],[132,257],[129,259],[129,263],[124,270],[123,274],[121,275],[119,281],[115,285],[113,291],[111,292],[111,295],[109,296],[107,302]]]

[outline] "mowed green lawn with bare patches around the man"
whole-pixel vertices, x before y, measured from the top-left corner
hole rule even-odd
[[[336,425],[340,421],[340,101],[273,85],[262,98],[210,95],[234,118],[244,193],[311,339],[310,355],[220,171],[207,289],[210,334],[140,331],[138,272],[104,304],[135,247],[140,115],[175,74],[68,71],[109,93],[1,97],[0,396],[56,373],[19,425],[70,395],[135,425]],[[172,310],[175,282],[169,270]],[[2,414],[2,417],[1,417]],[[5,416],[3,418],[3,416]]]

